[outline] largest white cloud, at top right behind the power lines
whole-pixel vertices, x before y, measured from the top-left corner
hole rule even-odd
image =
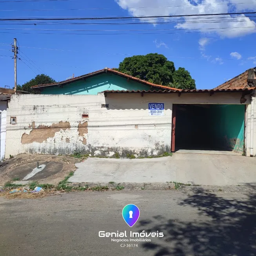
[[[128,9],[132,16],[163,16],[163,15],[188,15],[229,13],[241,11],[256,11],[256,0],[115,0],[120,7]],[[135,8],[134,8],[135,7]],[[138,8],[147,7],[147,8]],[[152,8],[153,7],[153,8]],[[199,30],[201,32],[217,31],[221,37],[240,37],[246,34],[256,33],[256,23],[245,15],[231,16],[207,16],[172,18],[177,29]],[[167,20],[167,19],[165,19]],[[169,19],[168,19],[169,20]],[[216,22],[216,20],[221,20]],[[156,19],[151,19],[156,22]],[[145,22],[145,19],[143,20]],[[211,33],[212,34],[212,33]]]

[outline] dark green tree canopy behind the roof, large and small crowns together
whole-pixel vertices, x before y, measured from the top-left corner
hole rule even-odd
[[[176,70],[174,63],[162,54],[150,53],[125,58],[120,62],[118,71],[154,84],[179,89],[196,89],[195,80],[189,71],[183,67]]]

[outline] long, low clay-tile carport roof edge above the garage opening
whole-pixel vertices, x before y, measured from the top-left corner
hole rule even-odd
[[[125,90],[122,90],[122,91],[114,91],[114,90],[107,90],[107,91],[103,91],[103,93],[211,93],[211,92],[239,92],[239,91],[248,91],[248,92],[252,92],[256,89],[256,87],[250,87],[250,88],[232,88],[232,89],[199,89],[199,90],[181,90],[181,89],[173,89],[173,88],[170,88],[169,90],[148,90],[148,91],[145,91],[145,90],[138,90],[138,91],[125,91]]]

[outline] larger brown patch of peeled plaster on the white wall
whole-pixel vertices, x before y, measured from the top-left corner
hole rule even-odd
[[[79,126],[79,125],[78,125]],[[31,125],[29,125],[31,128]],[[32,123],[32,131],[29,134],[22,134],[21,143],[22,144],[30,144],[33,142],[42,143],[48,138],[53,138],[55,133],[59,132],[60,130],[67,130],[70,129],[69,122],[59,122],[53,123],[53,125],[45,126],[39,125],[37,128],[35,127],[35,123]]]

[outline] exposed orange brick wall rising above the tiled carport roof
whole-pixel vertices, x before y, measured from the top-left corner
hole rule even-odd
[[[214,89],[231,89],[231,88],[246,88],[246,87],[249,87],[247,80],[249,78],[251,78],[252,74],[254,74],[254,77],[252,79],[255,79],[254,70],[253,69],[248,69],[247,71],[243,72],[242,74],[232,78],[231,80],[225,82],[224,84],[219,85],[218,87],[216,87]]]

